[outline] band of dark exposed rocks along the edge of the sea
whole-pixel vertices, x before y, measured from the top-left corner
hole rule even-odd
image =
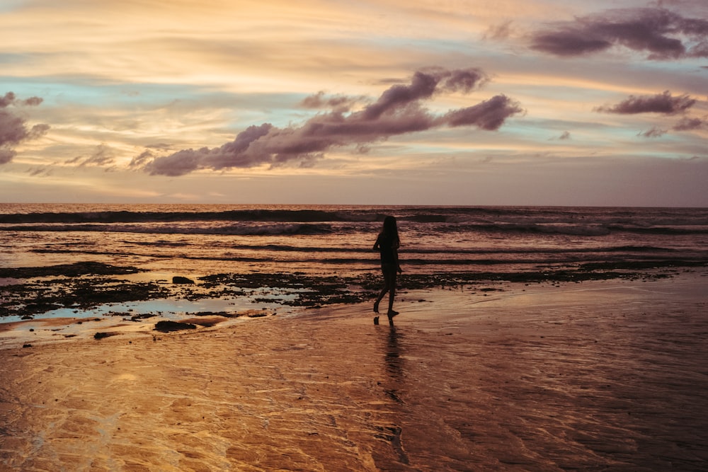
[[[695,263],[704,267],[704,263]],[[578,267],[532,272],[449,272],[399,277],[399,289],[467,287],[498,289],[499,282],[561,284],[610,279],[655,279],[691,270],[685,261],[652,263],[585,264]],[[222,299],[251,297],[254,303],[268,301],[282,306],[319,307],[352,304],[375,297],[380,289],[377,271],[356,276],[308,275],[304,273],[219,273],[190,280],[175,275],[172,280],[128,280],[142,272],[137,267],[96,262],[0,269],[0,321],[3,316],[25,319],[55,309],[76,311],[102,304],[121,304],[152,299]]]

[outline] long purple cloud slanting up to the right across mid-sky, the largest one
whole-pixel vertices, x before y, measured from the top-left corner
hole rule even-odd
[[[350,111],[353,101],[326,99],[317,93],[304,100],[307,106],[329,106],[300,126],[278,128],[270,123],[250,126],[233,142],[218,148],[183,149],[156,157],[144,164],[152,175],[185,175],[199,169],[249,168],[268,164],[299,163],[311,166],[327,151],[342,146],[366,149],[367,144],[436,127],[476,126],[496,130],[508,117],[522,113],[520,105],[498,95],[469,108],[434,115],[423,106],[443,93],[469,93],[489,78],[479,69],[430,68],[416,71],[409,84],[395,84],[379,98],[359,110]],[[337,97],[335,97],[337,98]],[[141,156],[136,165],[143,162]]]

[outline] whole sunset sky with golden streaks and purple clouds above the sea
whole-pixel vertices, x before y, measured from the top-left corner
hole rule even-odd
[[[0,202],[708,207],[708,2],[2,0]]]

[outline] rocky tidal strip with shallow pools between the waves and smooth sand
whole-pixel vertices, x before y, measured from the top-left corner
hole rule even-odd
[[[522,294],[527,289],[569,289],[598,282],[648,282],[692,275],[700,277],[705,272],[702,267],[660,267],[641,272],[618,272],[617,267],[605,271],[605,268],[600,272],[527,272],[514,277],[467,272],[406,274],[399,281],[397,300],[404,299],[407,294],[419,293],[424,297],[426,292],[445,289],[487,301],[494,295],[508,297],[515,292]],[[195,280],[175,277],[187,282],[169,283],[169,277],[164,278],[164,273],[159,274],[163,278],[156,278],[135,267],[100,263],[38,267],[18,272],[32,278],[18,280],[23,282],[21,286],[26,290],[14,300],[3,300],[6,314],[0,316],[0,349],[86,339],[94,335],[149,333],[159,322],[185,323],[201,329],[229,326],[246,318],[302,316],[309,309],[318,311],[339,304],[363,306],[375,298],[380,284],[380,277],[375,274],[342,277],[340,280],[331,276],[261,273],[207,275]],[[42,274],[40,278],[39,272]],[[67,275],[62,279],[43,278],[59,272]],[[114,275],[114,272],[115,275],[135,277],[132,280],[103,278]],[[47,286],[51,288],[47,289]],[[19,285],[11,288],[14,287]],[[106,290],[102,292],[101,287]],[[82,296],[86,299],[81,300]],[[7,306],[19,308],[16,314],[8,315]],[[47,309],[45,313],[35,313]],[[382,322],[385,323],[385,317]],[[173,330],[179,328],[180,325],[173,325]]]

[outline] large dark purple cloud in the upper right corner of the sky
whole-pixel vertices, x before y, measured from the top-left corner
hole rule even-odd
[[[649,59],[708,57],[708,21],[666,8],[627,8],[554,23],[531,37],[532,49],[561,57],[615,45],[646,52]]]

